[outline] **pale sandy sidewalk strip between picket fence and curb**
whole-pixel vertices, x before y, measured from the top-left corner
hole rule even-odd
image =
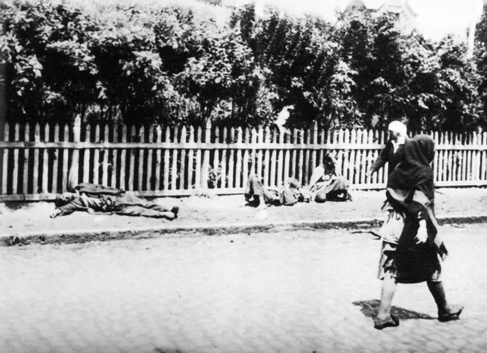
[[[75,212],[54,219],[52,202],[0,203],[0,232],[3,235],[38,232],[136,229],[141,227],[209,226],[252,222],[297,222],[326,220],[381,219],[385,191],[350,191],[353,201],[298,203],[294,206],[271,206],[257,210],[244,205],[243,195],[164,197],[157,202],[179,207],[173,221],[147,217],[90,215]],[[439,188],[436,213],[445,216],[487,215],[487,188]]]

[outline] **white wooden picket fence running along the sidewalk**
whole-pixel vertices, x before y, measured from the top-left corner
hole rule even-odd
[[[306,184],[325,153],[353,189],[380,189],[387,168],[366,171],[384,147],[377,130],[291,130],[206,126],[29,124],[3,128],[0,200],[54,199],[69,185],[91,182],[146,196],[180,196],[212,188],[243,193],[247,176],[280,185],[287,177]],[[438,186],[487,184],[487,133],[432,133]]]

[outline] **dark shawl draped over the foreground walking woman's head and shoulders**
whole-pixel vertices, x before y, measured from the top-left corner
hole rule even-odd
[[[434,181],[430,163],[434,158],[434,141],[427,135],[416,135],[404,144],[402,161],[389,175],[387,199],[401,211],[418,214],[426,220],[428,241],[440,255],[447,250],[438,235],[434,215]]]

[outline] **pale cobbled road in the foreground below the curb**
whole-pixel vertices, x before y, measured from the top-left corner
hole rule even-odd
[[[0,352],[486,352],[487,235],[445,227],[440,323],[426,285],[400,285],[378,331],[380,243],[300,231],[0,248]]]

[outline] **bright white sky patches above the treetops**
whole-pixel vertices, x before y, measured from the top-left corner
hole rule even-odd
[[[334,9],[343,9],[349,0],[262,0],[277,3],[290,13],[322,13],[333,16]],[[369,8],[378,8],[384,0],[364,0]],[[418,14],[416,28],[425,36],[440,39],[448,33],[465,35],[465,29],[482,14],[484,0],[409,0]]]

